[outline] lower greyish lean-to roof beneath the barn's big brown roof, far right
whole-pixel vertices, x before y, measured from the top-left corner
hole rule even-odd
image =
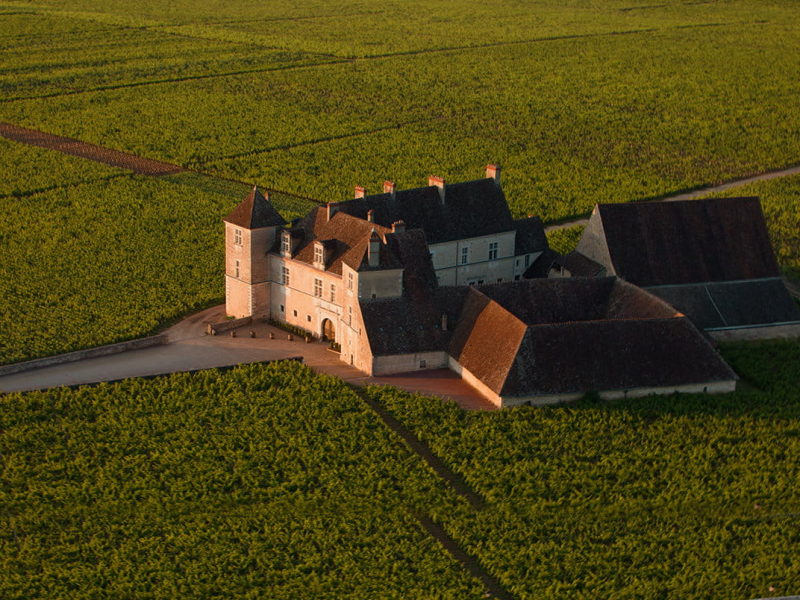
[[[800,321],[800,309],[778,278],[659,286],[648,291],[703,329]]]

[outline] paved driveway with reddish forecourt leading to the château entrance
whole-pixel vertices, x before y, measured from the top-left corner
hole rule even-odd
[[[390,377],[367,377],[343,363],[328,350],[327,343],[305,343],[267,323],[254,323],[217,336],[206,335],[206,325],[225,318],[224,306],[215,306],[183,319],[166,331],[170,343],[143,350],[133,350],[91,358],[54,367],[35,369],[0,378],[0,392],[30,391],[115,381],[128,377],[193,371],[240,363],[303,357],[303,362],[320,373],[335,375],[356,385],[394,385],[411,392],[452,398],[464,408],[492,410],[494,406],[474,388],[447,369],[421,371]],[[250,331],[255,337],[250,337]],[[274,339],[269,339],[272,333]]]

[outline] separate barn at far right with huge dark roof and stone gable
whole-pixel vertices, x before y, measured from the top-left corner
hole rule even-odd
[[[797,328],[758,198],[598,204],[551,276],[616,275],[710,333]]]

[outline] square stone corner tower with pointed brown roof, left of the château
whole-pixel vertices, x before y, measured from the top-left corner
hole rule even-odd
[[[258,187],[224,221],[225,311],[236,318],[269,317],[268,254],[286,221]]]

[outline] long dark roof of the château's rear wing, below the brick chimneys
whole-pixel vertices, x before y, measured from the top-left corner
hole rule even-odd
[[[442,204],[439,188],[427,186],[376,194],[334,205],[359,219],[372,210],[375,223],[391,227],[404,221],[407,229],[422,229],[429,244],[492,235],[514,229],[503,190],[494,179],[445,184]]]

